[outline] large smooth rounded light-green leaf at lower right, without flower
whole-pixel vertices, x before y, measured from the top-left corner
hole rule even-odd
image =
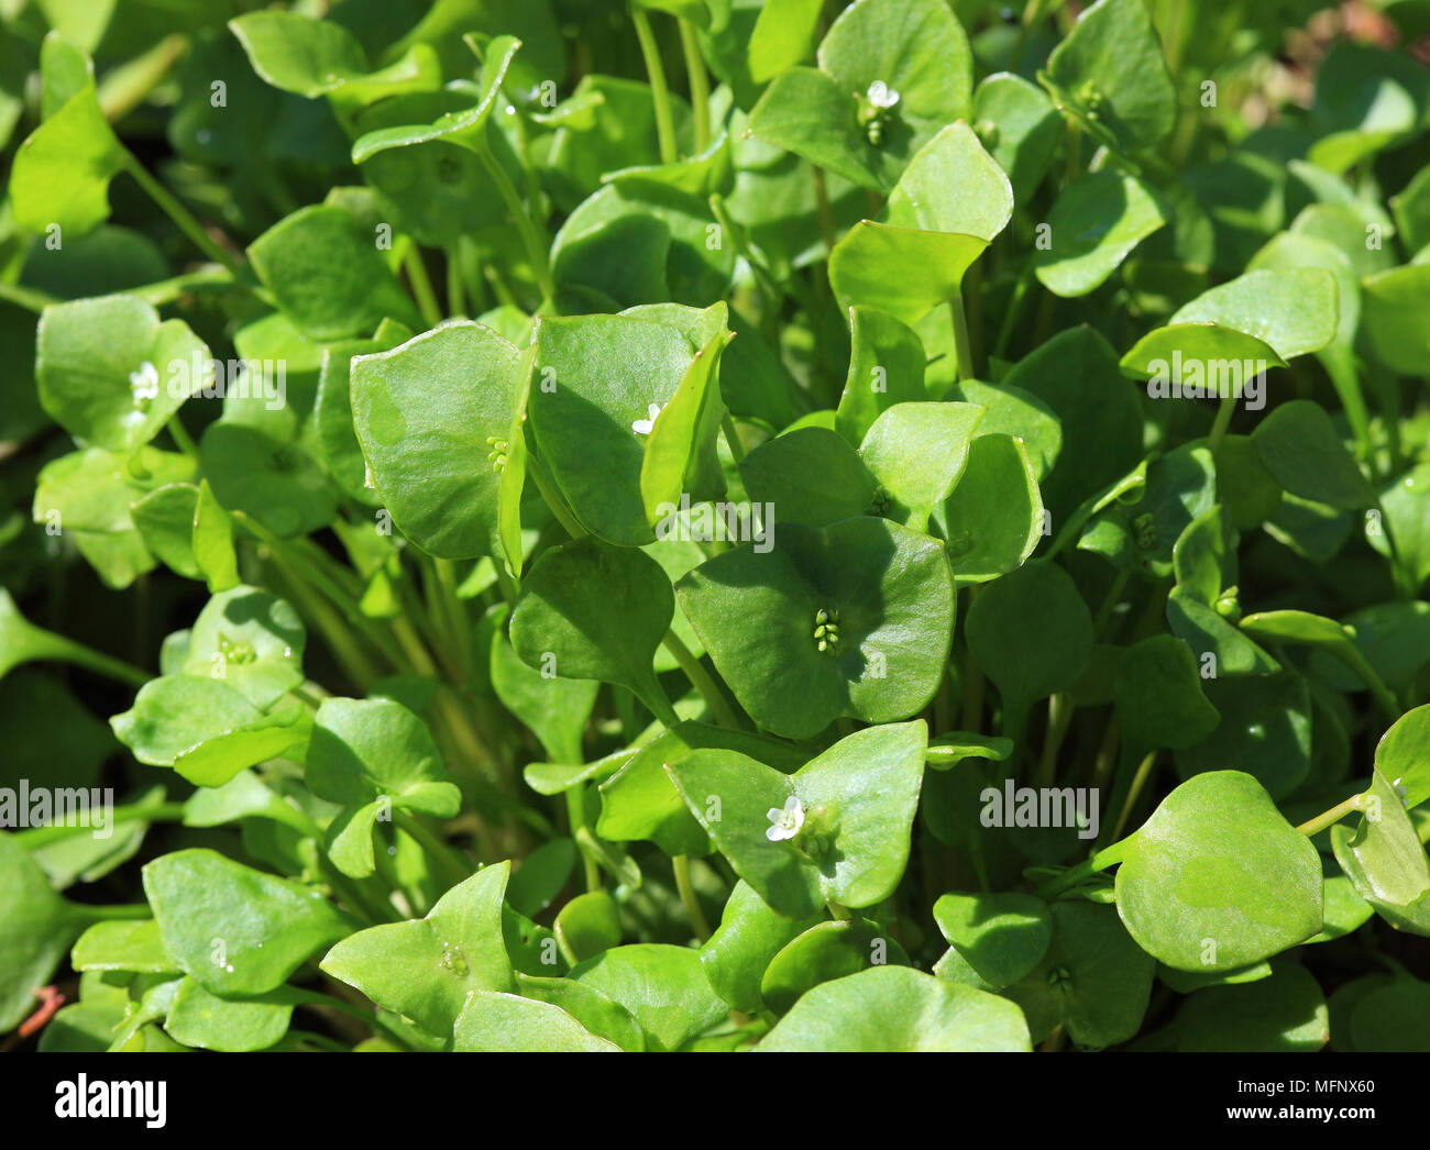
[[[1233,970],[1321,929],[1316,847],[1250,774],[1190,779],[1124,841],[1117,911],[1170,967]]]

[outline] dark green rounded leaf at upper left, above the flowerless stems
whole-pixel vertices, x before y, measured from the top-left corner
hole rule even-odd
[[[310,204],[249,244],[249,261],[283,313],[313,339],[366,336],[389,317],[418,330],[422,316],[375,239],[359,231],[346,209]]]

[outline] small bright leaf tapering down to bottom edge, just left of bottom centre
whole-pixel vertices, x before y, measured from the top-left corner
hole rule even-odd
[[[678,1049],[729,1010],[711,989],[699,954],[681,946],[612,947],[566,977],[629,1010],[651,1050]]]

